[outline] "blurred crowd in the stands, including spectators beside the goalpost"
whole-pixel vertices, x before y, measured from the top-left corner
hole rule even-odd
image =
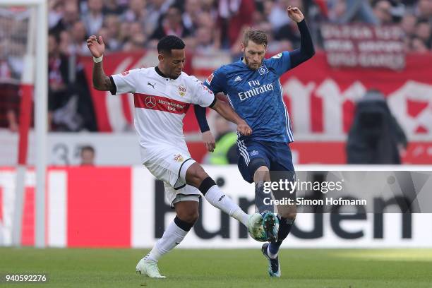
[[[323,23],[400,25],[407,52],[432,49],[432,0],[49,0],[49,129],[97,131],[90,88],[78,56],[102,35],[109,52],[154,49],[164,35],[194,53],[239,55],[242,32],[268,32],[268,52],[299,47],[287,6],[303,11],[317,49]],[[28,25],[0,9],[0,126],[18,131],[18,86]]]

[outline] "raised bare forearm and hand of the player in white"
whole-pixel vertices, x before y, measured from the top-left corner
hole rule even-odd
[[[97,38],[95,35],[88,37],[87,47],[93,55],[93,87],[96,90],[101,91],[112,91],[114,90],[114,84],[112,80],[105,75],[104,67],[102,66],[102,59],[105,51],[104,40],[102,36]]]

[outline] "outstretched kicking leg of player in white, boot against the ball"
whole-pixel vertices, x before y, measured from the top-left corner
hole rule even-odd
[[[225,196],[219,186],[208,176],[200,164],[196,162],[191,164],[186,170],[185,179],[186,184],[198,188],[211,205],[244,224],[254,239],[260,239],[265,235],[263,217],[258,213],[248,215],[241,210],[239,205],[231,198]]]

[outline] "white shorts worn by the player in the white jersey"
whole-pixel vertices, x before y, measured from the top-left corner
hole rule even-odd
[[[143,164],[157,179],[164,181],[165,195],[171,206],[185,200],[199,201],[200,191],[186,184],[186,171],[195,160],[189,152],[178,148],[159,150]]]

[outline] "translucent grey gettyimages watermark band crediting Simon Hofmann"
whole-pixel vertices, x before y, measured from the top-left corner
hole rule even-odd
[[[270,179],[259,202],[297,212],[432,212],[432,171],[270,172]]]

